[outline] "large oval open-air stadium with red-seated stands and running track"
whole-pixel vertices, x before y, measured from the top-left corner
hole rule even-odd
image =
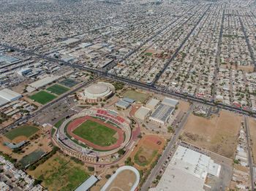
[[[108,109],[91,108],[65,120],[53,142],[67,155],[87,163],[113,163],[129,144],[130,121]]]

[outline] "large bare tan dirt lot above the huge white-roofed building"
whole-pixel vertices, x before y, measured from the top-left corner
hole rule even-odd
[[[214,115],[211,119],[191,114],[181,139],[197,147],[233,158],[241,121],[241,116],[227,111],[221,111],[219,116]]]

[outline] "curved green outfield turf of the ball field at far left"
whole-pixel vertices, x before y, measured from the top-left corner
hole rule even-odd
[[[39,128],[36,128],[34,126],[24,125],[20,128],[10,130],[9,132],[5,133],[4,136],[6,136],[10,140],[13,140],[18,136],[26,136],[27,138],[29,138],[29,136],[33,135],[34,133],[37,133],[38,130]]]

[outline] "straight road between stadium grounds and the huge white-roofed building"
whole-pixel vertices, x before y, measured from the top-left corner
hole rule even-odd
[[[176,144],[176,141],[178,140],[178,136],[181,134],[181,130],[184,127],[185,123],[187,122],[187,118],[189,117],[189,114],[192,112],[194,105],[189,107],[189,110],[184,115],[183,120],[181,120],[181,123],[178,125],[178,128],[176,128],[176,132],[173,135],[172,139],[167,144],[167,147],[165,147],[165,150],[162,152],[161,157],[159,157],[159,160],[157,162],[157,165],[154,166],[154,168],[151,170],[151,173],[148,176],[148,179],[146,179],[146,182],[141,187],[141,190],[148,190],[148,188],[151,186],[151,183],[156,178],[157,174],[159,174],[159,171],[161,170],[163,164],[167,160],[167,157],[170,155],[171,150]]]

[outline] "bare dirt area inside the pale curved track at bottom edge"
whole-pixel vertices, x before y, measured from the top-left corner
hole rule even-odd
[[[116,179],[107,188],[108,191],[120,191],[120,190],[131,190],[133,184],[135,184],[136,176],[133,171],[124,170],[121,171]],[[106,190],[106,191],[107,191]]]

